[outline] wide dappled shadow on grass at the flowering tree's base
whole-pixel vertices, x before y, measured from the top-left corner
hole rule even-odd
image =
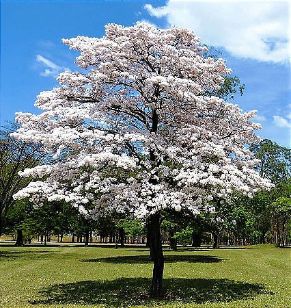
[[[137,305],[169,305],[186,303],[221,303],[270,294],[264,286],[228,279],[164,279],[165,296],[148,296],[148,278],[120,278],[113,281],[79,281],[51,285],[39,292],[33,305],[102,305],[128,307]]]

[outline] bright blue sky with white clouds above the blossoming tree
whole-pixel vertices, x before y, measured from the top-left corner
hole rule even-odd
[[[57,86],[61,71],[76,70],[77,53],[61,38],[100,37],[107,23],[137,21],[188,27],[217,48],[245,84],[234,103],[258,110],[260,137],[290,147],[288,1],[1,1],[1,125],[18,111],[39,113],[38,93]]]

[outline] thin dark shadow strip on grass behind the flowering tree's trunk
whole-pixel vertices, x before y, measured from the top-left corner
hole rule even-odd
[[[191,262],[216,263],[225,261],[213,255],[165,255],[165,263]],[[96,259],[82,259],[81,262],[106,262],[111,264],[146,264],[152,263],[148,255],[125,255],[120,257],[107,257]]]

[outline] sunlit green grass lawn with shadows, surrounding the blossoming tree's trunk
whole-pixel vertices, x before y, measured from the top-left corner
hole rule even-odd
[[[0,307],[291,307],[291,249],[165,249],[163,300],[148,250],[0,246]]]

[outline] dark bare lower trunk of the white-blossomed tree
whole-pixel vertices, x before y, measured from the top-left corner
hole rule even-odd
[[[154,269],[152,271],[152,284],[150,286],[151,297],[163,296],[163,272],[164,256],[160,232],[160,214],[156,213],[150,217],[150,242],[152,247],[152,257],[154,259]]]

